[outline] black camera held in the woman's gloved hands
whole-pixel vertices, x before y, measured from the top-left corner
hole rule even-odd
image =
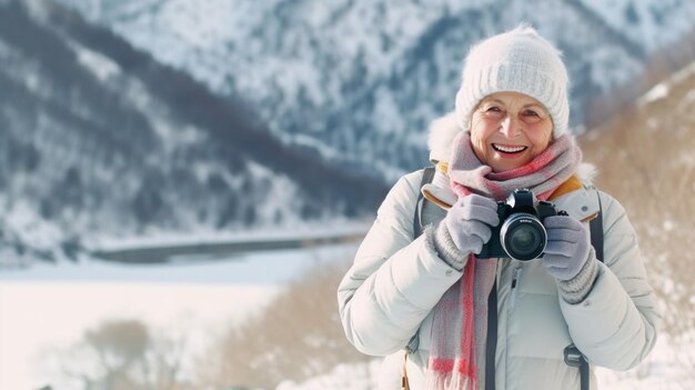
[[[542,221],[546,217],[566,214],[557,211],[553,203],[537,200],[530,190],[514,190],[505,201],[497,202],[500,224],[492,228],[492,238],[477,258],[523,261],[541,258],[547,243]]]

